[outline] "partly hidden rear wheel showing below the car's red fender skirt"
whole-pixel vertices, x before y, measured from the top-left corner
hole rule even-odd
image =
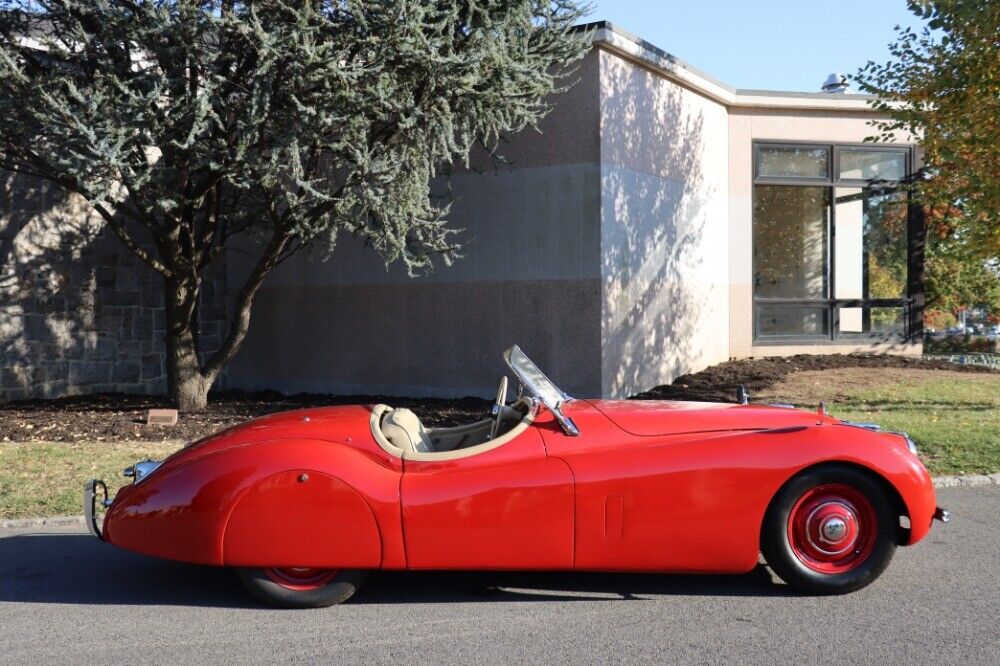
[[[322,608],[350,599],[368,577],[356,569],[270,567],[239,569],[254,597],[279,608]]]

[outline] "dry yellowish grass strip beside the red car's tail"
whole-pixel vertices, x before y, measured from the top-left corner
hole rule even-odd
[[[122,470],[143,458],[158,460],[181,444],[27,442],[0,444],[0,518],[83,513],[83,485],[104,479],[113,496],[129,480]]]

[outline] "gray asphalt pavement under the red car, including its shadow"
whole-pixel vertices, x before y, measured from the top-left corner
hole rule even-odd
[[[386,573],[315,611],[257,607],[231,572],[77,528],[0,532],[0,662],[1000,662],[1000,486],[873,586],[790,594],[745,576]],[[499,589],[490,586],[499,585]]]

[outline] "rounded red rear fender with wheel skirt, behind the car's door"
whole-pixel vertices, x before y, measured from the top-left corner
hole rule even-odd
[[[331,551],[340,566],[402,568],[399,477],[336,442],[248,442],[126,486],[105,517],[105,537],[183,562],[318,566],[319,548],[306,546],[329,546],[336,533],[357,539],[353,550]]]

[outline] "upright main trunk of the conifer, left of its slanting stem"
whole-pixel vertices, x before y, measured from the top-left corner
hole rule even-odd
[[[167,395],[181,412],[208,406],[212,381],[201,371],[197,336],[192,330],[198,285],[192,280],[164,280],[167,303]]]

